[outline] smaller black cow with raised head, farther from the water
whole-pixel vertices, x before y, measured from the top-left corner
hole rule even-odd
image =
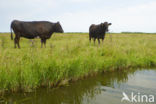
[[[105,38],[105,33],[108,31],[108,26],[110,26],[111,23],[104,22],[99,25],[92,24],[89,27],[89,40],[91,42],[91,39],[94,38],[94,44],[95,40],[98,39],[98,43],[100,44],[100,39],[102,41]]]

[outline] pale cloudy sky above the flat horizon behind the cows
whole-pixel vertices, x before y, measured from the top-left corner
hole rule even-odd
[[[0,0],[0,32],[12,20],[59,21],[65,32],[88,32],[112,23],[110,32],[156,32],[156,0]]]

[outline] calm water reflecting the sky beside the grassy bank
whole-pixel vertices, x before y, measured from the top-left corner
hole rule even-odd
[[[65,87],[38,89],[5,96],[8,104],[137,104],[121,102],[122,93],[153,95],[156,104],[156,70],[129,70],[100,74]],[[138,97],[137,96],[137,97]],[[138,100],[138,99],[137,99]]]

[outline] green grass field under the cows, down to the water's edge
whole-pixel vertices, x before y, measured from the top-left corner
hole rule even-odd
[[[89,43],[87,33],[53,34],[47,47],[39,39],[0,34],[0,92],[57,86],[90,73],[156,67],[156,34],[106,34],[103,44]],[[59,83],[58,83],[59,82]]]

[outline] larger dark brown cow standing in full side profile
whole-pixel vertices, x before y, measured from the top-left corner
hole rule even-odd
[[[36,37],[41,38],[41,47],[46,46],[46,39],[49,39],[54,32],[63,33],[63,29],[59,22],[51,23],[48,21],[32,21],[24,22],[14,20],[11,22],[11,39],[13,40],[12,29],[15,33],[14,44],[20,48],[19,40],[20,37],[34,39]]]

